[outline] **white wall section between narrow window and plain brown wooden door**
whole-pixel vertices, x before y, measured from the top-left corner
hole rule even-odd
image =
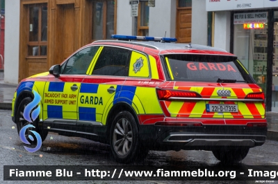
[[[149,36],[175,37],[176,0],[156,0],[155,7],[149,7]]]

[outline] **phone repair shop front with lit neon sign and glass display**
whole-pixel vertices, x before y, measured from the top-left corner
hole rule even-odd
[[[214,10],[208,4],[207,11],[231,13],[228,51],[238,56],[263,89],[266,111],[278,112],[278,1],[222,1]]]

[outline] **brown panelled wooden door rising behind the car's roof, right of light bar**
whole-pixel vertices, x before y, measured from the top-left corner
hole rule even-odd
[[[177,8],[176,37],[179,43],[191,42],[192,8]]]

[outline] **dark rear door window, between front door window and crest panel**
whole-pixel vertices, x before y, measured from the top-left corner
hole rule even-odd
[[[92,75],[127,76],[131,50],[105,46],[101,51]]]

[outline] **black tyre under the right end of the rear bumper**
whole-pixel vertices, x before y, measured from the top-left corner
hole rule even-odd
[[[247,156],[249,148],[221,148],[213,150],[215,158],[220,160],[224,164],[238,163]]]

